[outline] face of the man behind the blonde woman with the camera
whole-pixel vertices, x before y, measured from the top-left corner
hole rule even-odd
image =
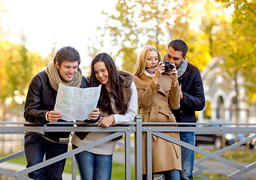
[[[166,61],[174,62],[175,67],[178,68],[181,65],[181,62],[184,62],[187,58],[187,55],[182,57],[181,51],[175,51],[172,46],[167,50]]]

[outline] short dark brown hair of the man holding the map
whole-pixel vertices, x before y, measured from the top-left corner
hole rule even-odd
[[[54,64],[56,62],[61,66],[62,62],[78,62],[78,65],[81,63],[81,58],[78,51],[72,46],[64,46],[56,52],[56,55],[53,59]]]

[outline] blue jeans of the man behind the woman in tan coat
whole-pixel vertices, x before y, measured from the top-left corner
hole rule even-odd
[[[195,145],[195,133],[194,132],[180,132],[180,139],[183,142],[187,142],[190,145]],[[181,179],[191,180],[193,179],[194,168],[194,151],[181,146]]]

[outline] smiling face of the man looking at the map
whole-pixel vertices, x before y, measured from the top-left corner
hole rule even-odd
[[[62,80],[69,82],[72,81],[75,77],[75,74],[78,71],[78,61],[77,62],[62,62],[61,66],[56,62],[56,68],[59,71],[59,76]]]

